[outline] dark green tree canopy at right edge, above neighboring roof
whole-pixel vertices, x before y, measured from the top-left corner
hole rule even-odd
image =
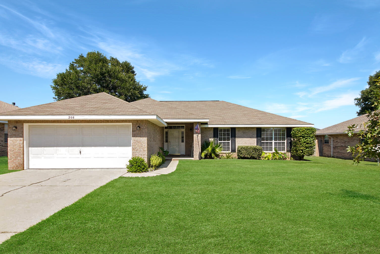
[[[368,88],[360,92],[360,97],[355,98],[355,105],[360,109],[358,115],[364,115],[379,109],[380,101],[380,70],[368,79]]]

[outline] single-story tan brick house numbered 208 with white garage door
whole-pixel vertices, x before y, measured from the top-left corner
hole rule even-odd
[[[107,93],[0,113],[8,121],[9,169],[124,168],[133,156],[149,161],[164,147],[200,158],[215,138],[223,152],[238,145],[288,151],[291,128],[313,124],[225,101],[126,102]],[[199,133],[195,127],[199,126]]]

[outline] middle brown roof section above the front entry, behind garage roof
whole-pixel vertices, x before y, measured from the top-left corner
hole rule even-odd
[[[152,98],[130,102],[130,105],[143,109],[151,114],[159,115],[164,121],[168,119],[204,119],[200,115],[178,109],[171,105],[156,101]]]

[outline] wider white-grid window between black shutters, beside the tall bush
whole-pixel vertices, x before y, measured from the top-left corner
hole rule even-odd
[[[285,152],[285,136],[285,128],[263,128],[261,130],[261,147],[263,147],[263,151],[274,152],[274,149],[277,149],[279,152]]]

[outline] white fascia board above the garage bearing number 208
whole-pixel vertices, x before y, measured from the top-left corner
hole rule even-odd
[[[167,126],[158,115],[3,115],[0,120],[149,120]]]

